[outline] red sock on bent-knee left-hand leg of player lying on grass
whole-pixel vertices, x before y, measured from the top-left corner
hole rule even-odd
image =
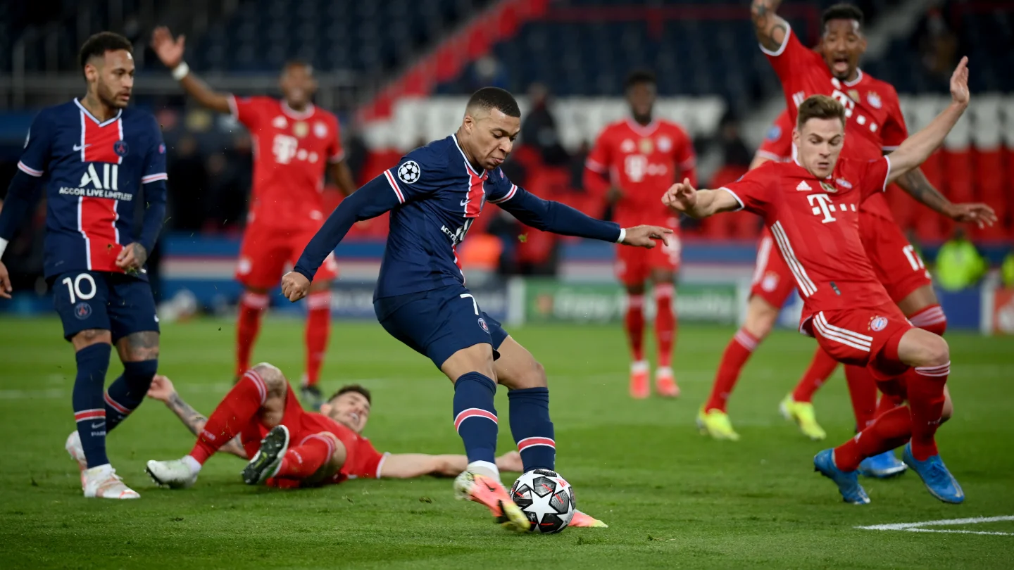
[[[208,418],[208,423],[197,436],[191,456],[204,465],[219,447],[249,424],[267,399],[268,386],[264,378],[256,371],[247,370]]]

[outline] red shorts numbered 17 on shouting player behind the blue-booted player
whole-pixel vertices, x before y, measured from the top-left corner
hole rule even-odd
[[[877,279],[895,303],[916,289],[933,284],[923,260],[893,221],[860,211],[859,237]]]

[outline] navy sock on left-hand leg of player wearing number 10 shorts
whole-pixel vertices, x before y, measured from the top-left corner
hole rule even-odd
[[[81,447],[88,467],[110,462],[105,456],[105,405],[102,387],[110,367],[113,347],[98,343],[77,351],[77,377],[74,379],[74,421],[81,436]]]

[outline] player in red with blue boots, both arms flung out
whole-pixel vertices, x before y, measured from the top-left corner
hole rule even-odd
[[[696,218],[739,209],[763,216],[804,298],[800,331],[816,337],[838,361],[865,366],[884,394],[908,399],[908,406],[887,411],[813,458],[851,503],[869,502],[856,476],[860,461],[906,441],[904,462],[930,493],[945,502],[964,500],[935,441],[950,373],[947,342],[913,327],[891,302],[863,250],[857,210],[940,146],[968,105],[966,65],[962,59],[951,77],[951,104],[884,157],[840,159],[845,108],[829,96],[811,95],[799,105],[796,160],[769,162],[719,190],[698,191],[684,182],[662,197]]]

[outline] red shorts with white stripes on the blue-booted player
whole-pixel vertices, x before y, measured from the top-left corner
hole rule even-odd
[[[908,367],[897,360],[901,336],[914,329],[894,303],[876,308],[844,308],[814,312],[802,331],[843,364],[866,366],[877,380],[888,380]]]

